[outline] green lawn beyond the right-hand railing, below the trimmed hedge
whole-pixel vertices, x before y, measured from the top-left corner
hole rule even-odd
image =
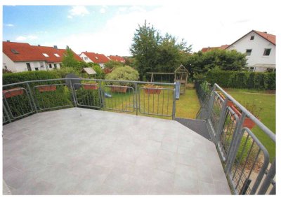
[[[255,104],[256,106],[261,107],[261,112],[259,113],[259,120],[263,122],[266,127],[268,127],[273,133],[276,133],[276,97],[275,94],[265,94],[259,90],[237,90],[237,89],[228,89],[228,93],[234,97],[240,104],[246,106],[247,104]],[[263,146],[266,147],[270,155],[270,161],[275,157],[275,143],[263,133],[259,127],[254,127],[252,129],[254,134],[259,138]]]

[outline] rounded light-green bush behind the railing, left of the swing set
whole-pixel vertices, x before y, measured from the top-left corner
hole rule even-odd
[[[138,71],[131,68],[131,66],[117,67],[111,73],[108,73],[105,76],[105,79],[107,79],[107,80],[132,80],[132,81],[136,81],[136,80],[138,80],[138,78],[139,78]],[[115,84],[115,83],[113,83],[113,84]],[[120,84],[118,84],[118,85],[120,85]]]

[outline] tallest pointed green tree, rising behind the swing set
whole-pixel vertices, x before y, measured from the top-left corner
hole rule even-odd
[[[152,71],[157,64],[158,45],[161,38],[158,31],[150,24],[138,25],[133,36],[133,44],[130,51],[135,60],[135,66],[143,80],[145,73]]]

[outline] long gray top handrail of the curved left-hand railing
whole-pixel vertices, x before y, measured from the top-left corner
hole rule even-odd
[[[105,80],[105,79],[90,79],[90,78],[53,78],[53,79],[44,79],[44,80],[27,80],[19,83],[11,83],[2,85],[2,87],[8,87],[13,85],[20,85],[24,83],[37,83],[37,82],[48,82],[52,80],[92,80],[100,82],[116,82],[116,83],[138,83],[138,84],[154,84],[154,85],[170,85],[176,86],[176,83],[156,83],[156,82],[145,82],[145,81],[133,81],[133,80]]]

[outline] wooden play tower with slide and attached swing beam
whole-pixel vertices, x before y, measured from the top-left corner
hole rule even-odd
[[[176,83],[176,99],[179,99],[179,94],[185,94],[185,88],[188,83],[188,73],[189,73],[188,70],[182,64],[181,66],[178,66],[178,68],[174,71],[174,73],[147,72],[147,74],[151,75],[150,82]],[[172,81],[173,78],[174,78],[174,82]]]

